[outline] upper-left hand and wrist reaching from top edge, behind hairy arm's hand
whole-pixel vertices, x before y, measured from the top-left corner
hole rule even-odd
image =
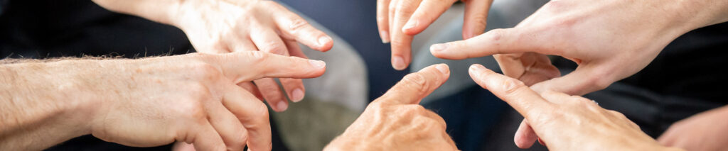
[[[145,17],[183,30],[197,52],[229,53],[262,51],[306,58],[298,43],[326,52],[333,46],[331,37],[275,1],[246,0],[94,0],[115,12]],[[253,84],[254,83],[254,84]],[[261,78],[239,83],[256,97],[265,99],[272,109],[282,112],[304,98],[301,79]]]

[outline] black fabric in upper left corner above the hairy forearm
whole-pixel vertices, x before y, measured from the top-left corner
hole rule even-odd
[[[109,12],[90,0],[9,1],[5,9],[0,16],[0,57],[194,52],[181,30]]]

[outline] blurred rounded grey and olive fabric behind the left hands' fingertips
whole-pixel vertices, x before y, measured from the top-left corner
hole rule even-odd
[[[289,9],[296,12],[295,9]],[[285,112],[269,112],[288,149],[322,150],[328,142],[343,133],[366,107],[367,71],[364,61],[347,41],[315,20],[298,12],[296,14],[331,36],[334,45],[328,52],[318,52],[300,45],[309,58],[326,62],[326,73],[319,78],[304,79],[304,100],[291,102]]]

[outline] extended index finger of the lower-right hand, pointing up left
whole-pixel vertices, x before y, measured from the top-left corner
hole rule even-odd
[[[478,64],[470,65],[469,73],[475,83],[503,99],[526,119],[530,119],[530,115],[542,113],[545,107],[550,107],[550,103],[536,91],[515,78],[495,73]]]

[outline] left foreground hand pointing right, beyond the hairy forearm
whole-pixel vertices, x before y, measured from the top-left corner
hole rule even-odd
[[[325,62],[264,52],[186,54],[109,60],[85,77],[98,99],[90,133],[108,142],[151,147],[180,141],[197,150],[271,150],[266,105],[235,83],[314,78]]]

